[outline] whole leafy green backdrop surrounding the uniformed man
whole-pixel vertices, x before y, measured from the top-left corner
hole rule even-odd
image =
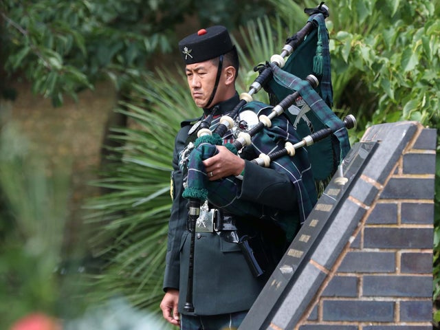
[[[440,1],[325,4],[333,110],[357,118],[351,142],[383,122],[438,129]],[[114,329],[166,329],[158,306],[173,141],[180,120],[198,113],[177,41],[226,25],[240,46],[239,92],[247,91],[253,67],[279,54],[305,25],[304,8],[317,5],[0,3],[0,329],[34,311],[63,320],[66,329],[113,329],[106,319]]]

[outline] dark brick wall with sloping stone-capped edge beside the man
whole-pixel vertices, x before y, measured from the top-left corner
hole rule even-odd
[[[239,329],[432,329],[436,140],[416,122],[366,131]]]

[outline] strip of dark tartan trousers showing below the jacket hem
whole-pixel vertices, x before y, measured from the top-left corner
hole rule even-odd
[[[236,330],[248,311],[212,316],[180,316],[181,330]]]

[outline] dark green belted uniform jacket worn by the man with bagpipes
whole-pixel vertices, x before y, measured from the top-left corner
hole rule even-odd
[[[227,113],[239,102],[238,96],[220,104],[220,112]],[[186,314],[186,286],[190,232],[187,230],[188,200],[181,197],[183,174],[179,168],[179,152],[186,146],[189,122],[182,123],[175,139],[173,155],[173,206],[168,230],[168,250],[164,290],[179,289],[179,312]],[[298,213],[296,190],[287,175],[245,162],[245,174],[239,199],[255,201],[282,212]],[[249,219],[246,219],[249,220]],[[252,225],[252,221],[250,222]],[[274,231],[278,228],[274,228]],[[270,225],[265,231],[271,232]],[[272,270],[267,276],[255,278],[236,243],[221,239],[217,232],[199,233],[195,239],[193,305],[197,315],[216,315],[250,309]],[[280,243],[280,242],[278,242]],[[279,244],[281,245],[281,244]],[[285,248],[285,242],[283,245]],[[278,249],[278,247],[277,247]],[[279,249],[278,249],[279,251]],[[283,254],[278,253],[278,259]],[[275,264],[278,260],[275,261]]]

